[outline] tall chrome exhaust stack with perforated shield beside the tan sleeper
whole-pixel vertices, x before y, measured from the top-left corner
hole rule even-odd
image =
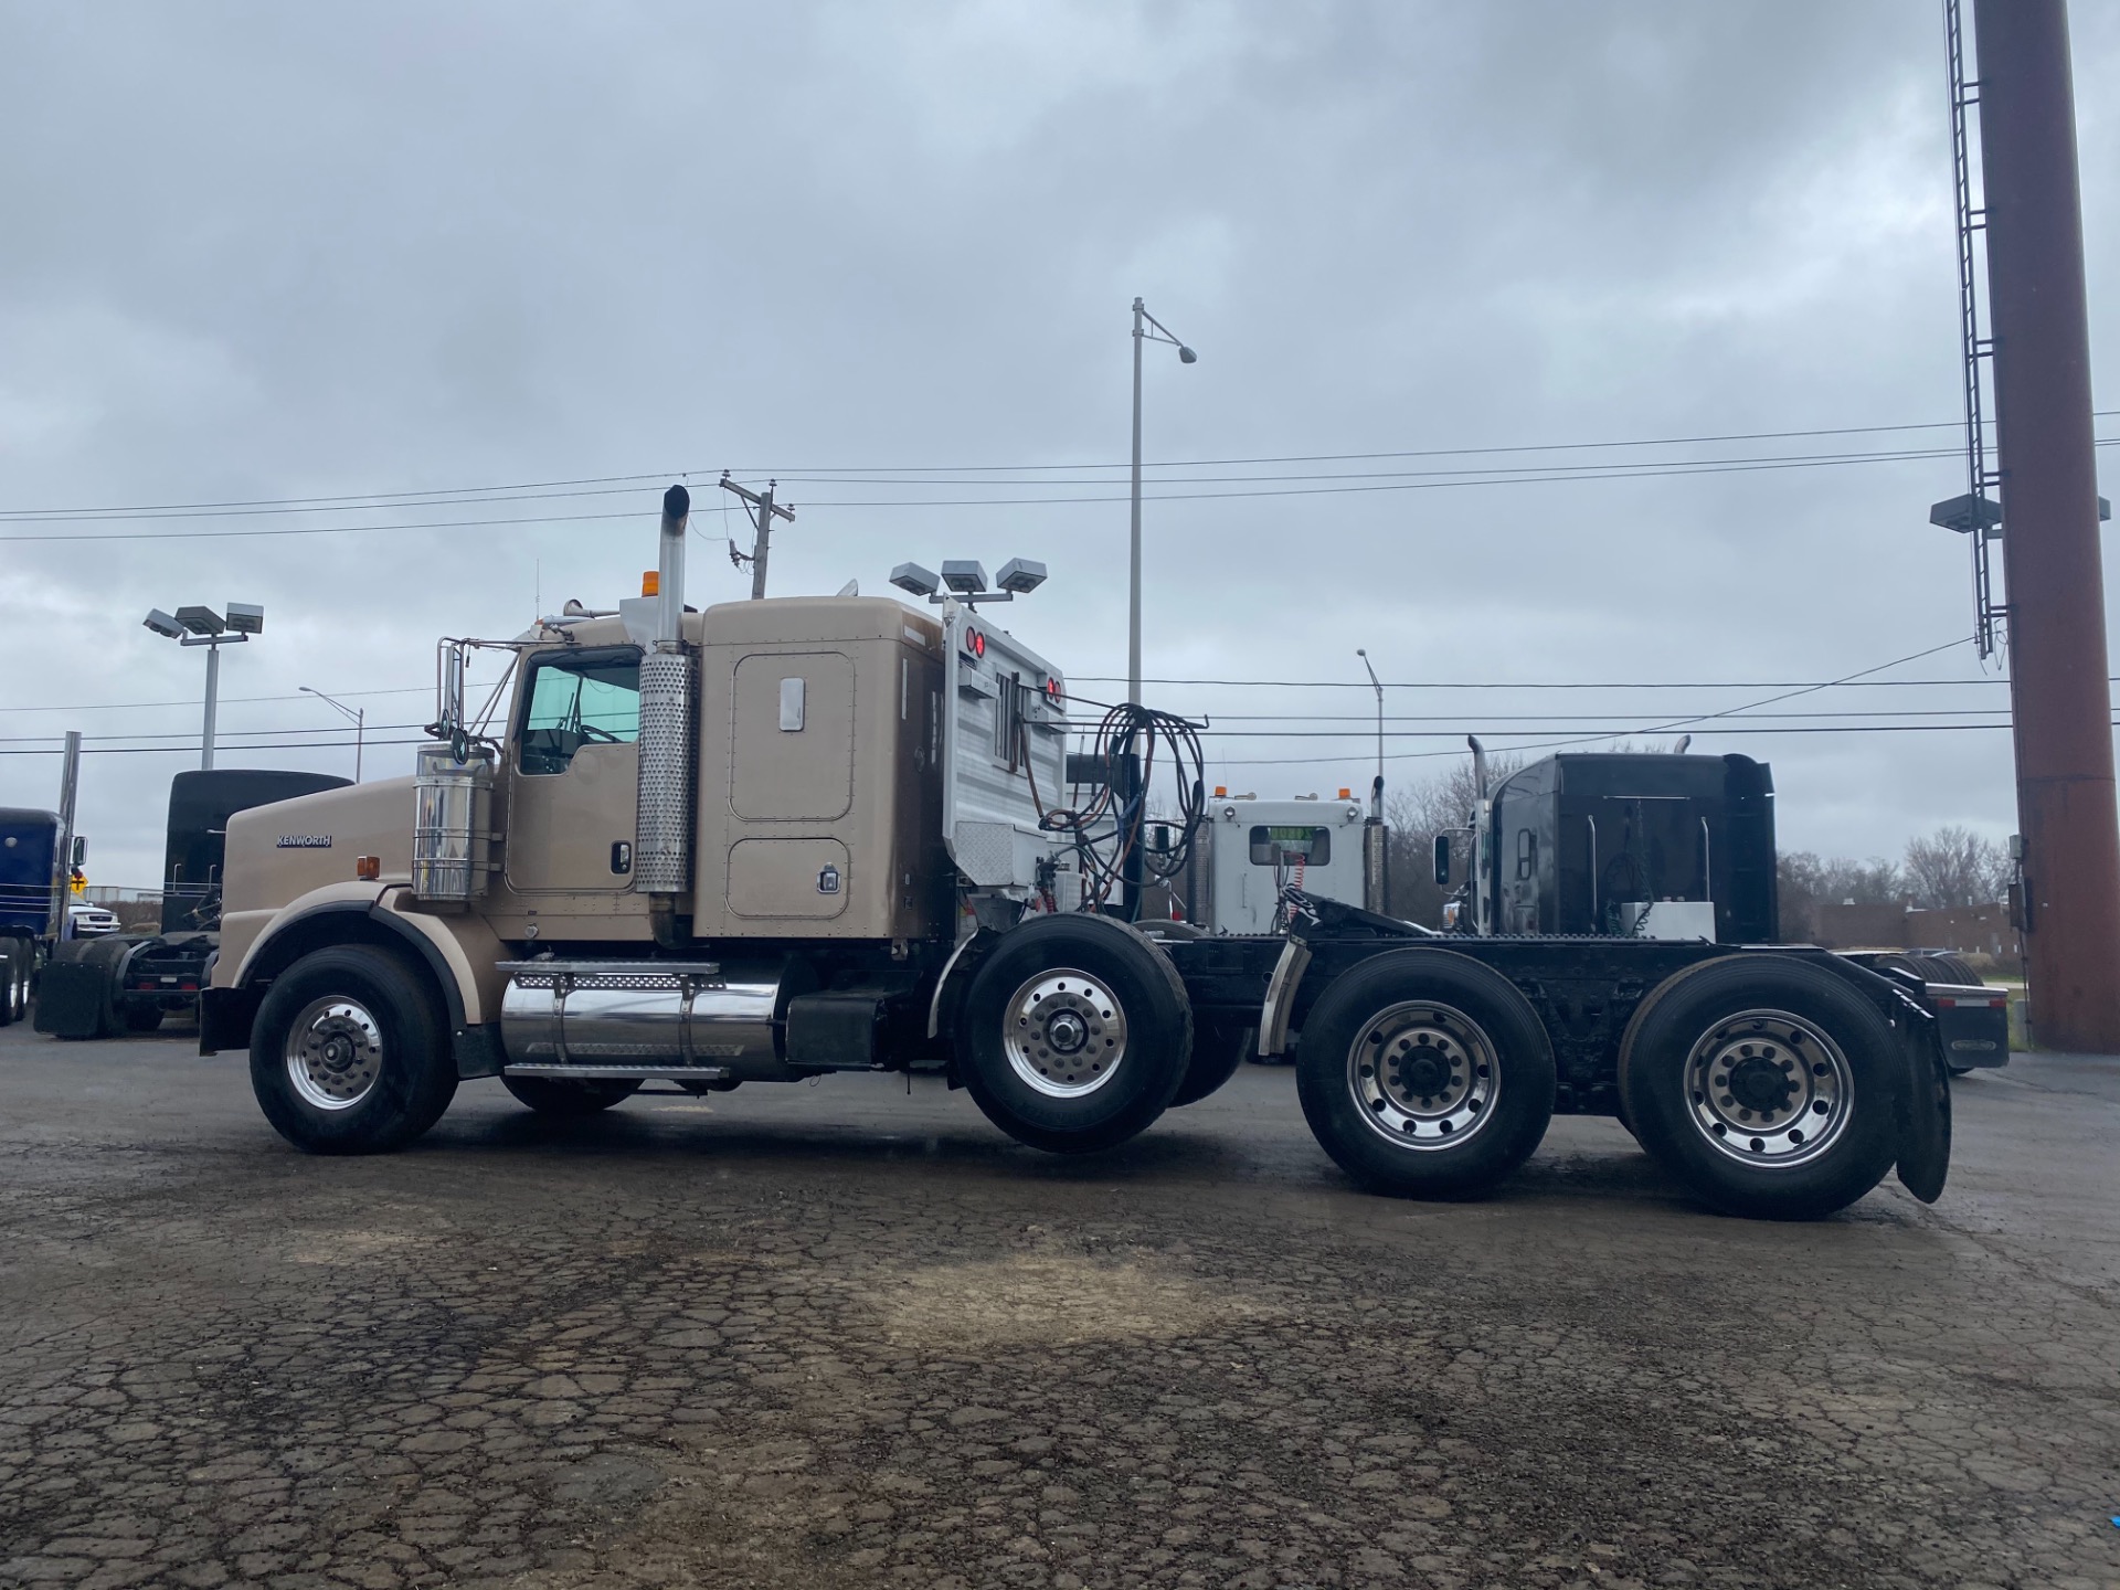
[[[691,893],[693,668],[685,651],[685,530],[691,492],[664,492],[655,638],[640,657],[640,803],[634,888],[661,943],[676,939],[676,897]]]

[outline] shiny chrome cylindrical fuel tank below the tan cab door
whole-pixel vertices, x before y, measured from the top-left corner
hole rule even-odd
[[[793,1081],[774,1022],[780,960],[511,960],[509,1066]]]

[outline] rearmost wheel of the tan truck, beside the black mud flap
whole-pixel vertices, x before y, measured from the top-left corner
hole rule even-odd
[[[1878,1009],[1825,967],[1721,956],[1668,977],[1635,1011],[1620,1096],[1641,1145],[1700,1202],[1817,1219],[1876,1187],[1897,1158],[1895,1043]]]

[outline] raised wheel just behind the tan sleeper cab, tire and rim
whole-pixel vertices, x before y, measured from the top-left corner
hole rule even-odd
[[[1066,914],[1011,929],[986,956],[965,992],[956,1056],[973,1102],[1018,1143],[1094,1153],[1155,1124],[1191,1043],[1191,1003],[1170,960],[1124,922]]]

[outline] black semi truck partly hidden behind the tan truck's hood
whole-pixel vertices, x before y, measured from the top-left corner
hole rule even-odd
[[[53,948],[38,977],[36,1030],[59,1039],[153,1032],[191,1015],[220,952],[220,867],[229,818],[350,780],[331,774],[212,767],[170,782],[161,931]]]

